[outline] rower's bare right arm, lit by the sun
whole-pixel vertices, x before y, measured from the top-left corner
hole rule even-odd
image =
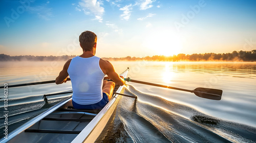
[[[100,59],[100,67],[102,68],[103,73],[108,75],[108,77],[117,85],[123,85],[125,83],[123,77],[119,77],[113,65],[109,61]]]

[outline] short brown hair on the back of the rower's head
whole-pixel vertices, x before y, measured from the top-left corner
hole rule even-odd
[[[91,31],[84,31],[79,36],[79,42],[83,51],[92,51],[97,42],[97,35]]]

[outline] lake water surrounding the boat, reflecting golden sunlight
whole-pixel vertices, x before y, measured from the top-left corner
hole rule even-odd
[[[65,62],[1,62],[0,84],[54,80]],[[256,63],[229,62],[112,62],[117,73],[130,67],[135,80],[193,90],[222,89],[221,101],[203,99],[194,93],[127,83],[110,126],[99,142],[255,142]],[[43,94],[71,90],[71,83],[45,84],[8,89],[8,130],[71,96]],[[1,89],[4,98],[4,90]],[[0,111],[4,103],[0,99]],[[3,137],[4,117],[0,117]]]

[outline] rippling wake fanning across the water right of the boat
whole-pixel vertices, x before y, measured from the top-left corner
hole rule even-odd
[[[208,116],[127,85],[108,134],[100,142],[255,142],[256,129]]]

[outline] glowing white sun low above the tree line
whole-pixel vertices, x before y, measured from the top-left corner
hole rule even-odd
[[[145,36],[143,46],[146,47],[148,53],[173,56],[180,54],[182,41],[179,35],[172,32],[156,31]]]

